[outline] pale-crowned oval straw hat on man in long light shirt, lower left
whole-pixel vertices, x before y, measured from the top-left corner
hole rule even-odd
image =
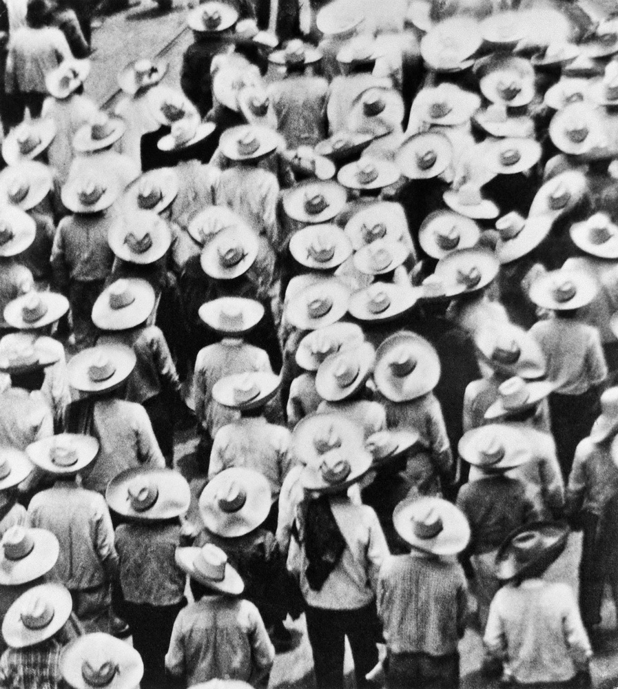
[[[60,433],[26,448],[32,464],[47,473],[67,476],[83,471],[99,453],[99,441],[81,433]]]

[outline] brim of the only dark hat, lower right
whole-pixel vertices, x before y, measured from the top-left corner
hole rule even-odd
[[[542,530],[546,538],[546,548],[540,553],[539,557],[520,564],[513,557],[510,551],[511,542],[515,536],[525,531]],[[506,582],[509,579],[515,579],[526,573],[540,573],[548,568],[550,564],[555,562],[568,541],[570,530],[567,524],[561,522],[531,522],[520,526],[511,534],[508,535],[504,543],[498,548],[495,556],[495,575],[502,581]]]

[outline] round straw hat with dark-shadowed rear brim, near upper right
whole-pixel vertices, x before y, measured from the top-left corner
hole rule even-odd
[[[521,107],[535,96],[535,72],[528,60],[491,55],[479,61],[477,71],[481,92],[491,103]]]

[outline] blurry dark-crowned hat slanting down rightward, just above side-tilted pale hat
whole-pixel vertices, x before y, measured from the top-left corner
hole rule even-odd
[[[545,375],[543,350],[528,332],[517,325],[488,323],[476,333],[474,343],[482,360],[502,376],[535,380]]]

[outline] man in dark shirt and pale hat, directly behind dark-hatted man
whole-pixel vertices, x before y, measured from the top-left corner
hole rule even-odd
[[[478,616],[484,629],[500,586],[494,568],[497,548],[515,528],[542,513],[515,472],[533,459],[533,440],[521,428],[489,424],[464,433],[458,449],[472,468],[468,482],[457,493],[457,507],[470,524],[465,557],[474,571]]]

